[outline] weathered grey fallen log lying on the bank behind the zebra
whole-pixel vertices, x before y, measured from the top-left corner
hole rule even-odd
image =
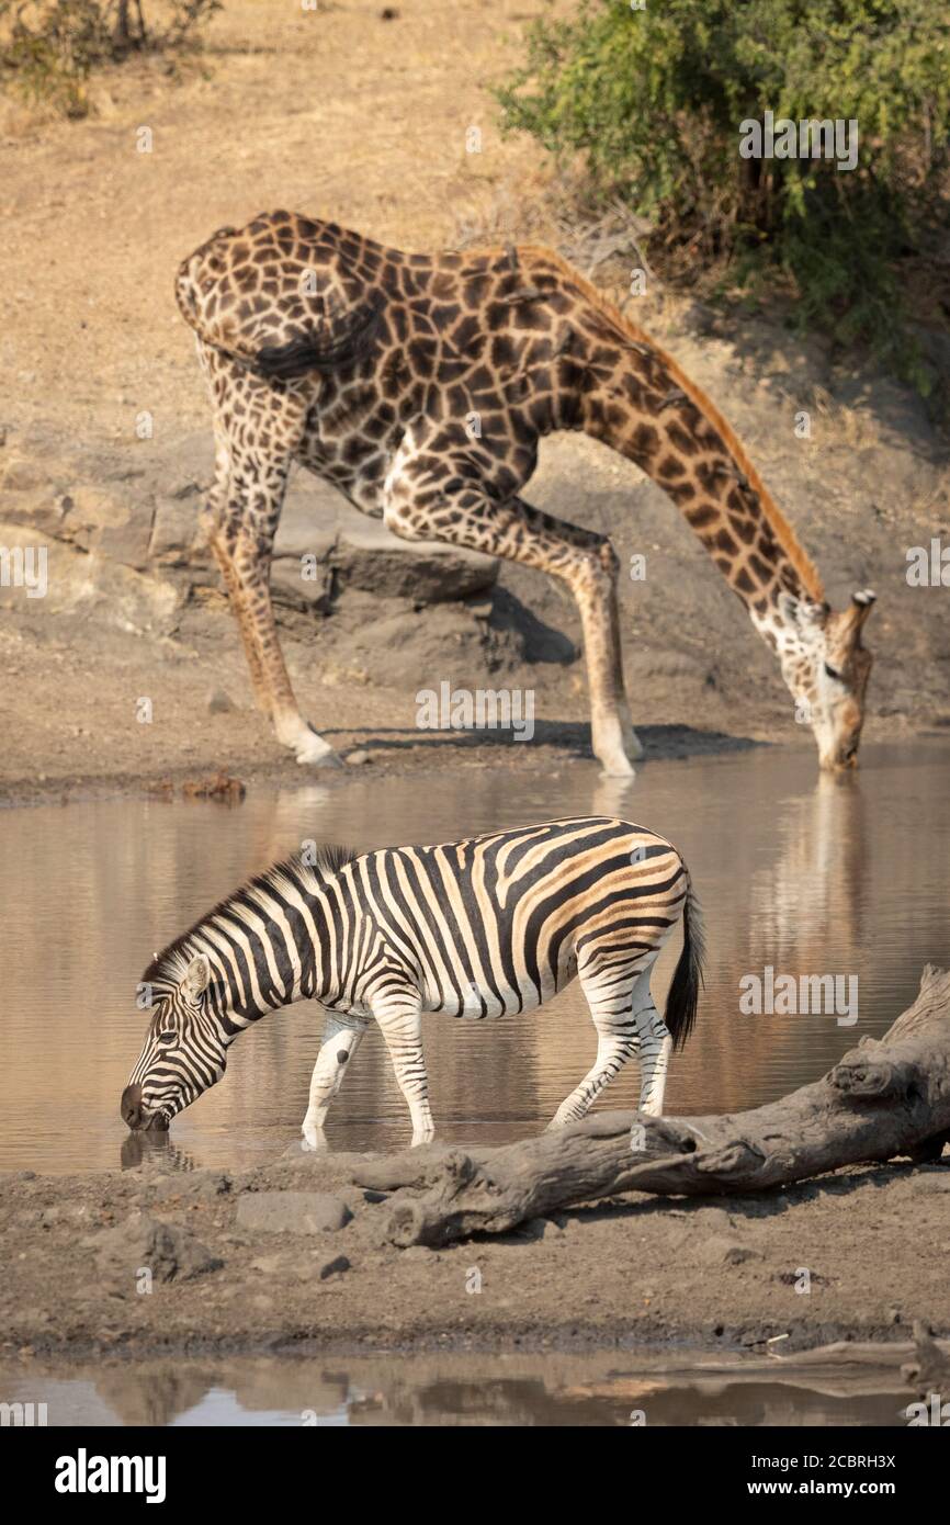
[[[843,1165],[939,1159],[950,1142],[950,973],[924,968],[913,1005],[822,1080],[750,1112],[648,1118],[601,1112],[496,1150],[430,1145],[360,1167],[392,1191],[393,1244],[503,1234],[526,1218],[624,1191],[765,1191]]]

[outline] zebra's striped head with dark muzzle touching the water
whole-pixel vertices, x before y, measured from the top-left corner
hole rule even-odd
[[[227,1064],[227,1034],[206,1000],[212,979],[204,953],[180,978],[152,987],[152,1020],[128,1086],[122,1121],[133,1132],[168,1128],[171,1119],[217,1086]]]

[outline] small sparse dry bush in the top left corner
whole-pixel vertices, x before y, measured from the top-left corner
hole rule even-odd
[[[0,0],[0,84],[63,116],[85,116],[84,82],[95,69],[194,46],[220,9],[220,0],[162,0],[152,21],[142,0]]]

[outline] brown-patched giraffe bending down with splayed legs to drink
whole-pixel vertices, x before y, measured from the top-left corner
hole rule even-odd
[[[270,602],[291,464],[407,540],[560,578],[583,627],[604,773],[642,755],[624,691],[618,557],[522,496],[538,439],[584,430],[647,473],[775,651],[826,769],[852,767],[874,593],[833,612],[735,433],[671,355],[537,246],[403,253],[293,212],[223,227],[180,265],[213,409],[203,520],[259,708],[303,764],[339,761],[302,717]]]

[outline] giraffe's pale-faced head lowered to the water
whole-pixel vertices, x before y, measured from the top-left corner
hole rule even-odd
[[[872,656],[862,644],[862,628],[875,595],[855,593],[848,608],[784,595],[778,650],[782,676],[817,741],[823,769],[857,767],[865,723],[865,691]]]

